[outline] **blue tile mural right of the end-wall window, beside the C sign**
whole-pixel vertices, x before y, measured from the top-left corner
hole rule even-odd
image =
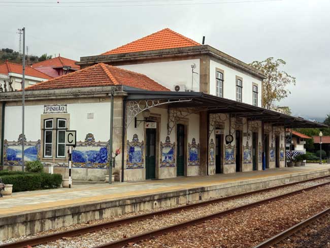
[[[88,133],[84,141],[78,141],[72,152],[74,167],[107,168],[109,154],[108,142],[95,142],[94,135]]]

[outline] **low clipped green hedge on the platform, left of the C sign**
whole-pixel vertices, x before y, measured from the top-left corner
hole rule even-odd
[[[55,189],[62,182],[62,175],[47,173],[8,174],[1,178],[4,183],[13,184],[13,192]]]

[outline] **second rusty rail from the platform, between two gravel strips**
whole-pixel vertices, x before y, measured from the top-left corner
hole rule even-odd
[[[266,204],[266,203],[269,203],[269,202],[274,201],[274,200],[279,200],[279,199],[282,199],[282,198],[285,198],[285,197],[288,197],[288,196],[296,195],[296,194],[299,194],[303,191],[309,191],[309,190],[312,190],[312,189],[315,189],[315,188],[318,188],[320,186],[324,186],[324,185],[327,185],[327,184],[330,184],[330,182],[319,183],[319,184],[313,185],[313,186],[305,188],[305,189],[293,191],[293,192],[286,193],[286,194],[283,194],[283,195],[280,195],[280,196],[275,196],[275,197],[271,197],[271,198],[268,198],[268,199],[265,199],[265,200],[260,200],[260,201],[245,204],[245,205],[242,205],[242,206],[239,206],[239,207],[235,207],[235,208],[227,209],[227,210],[224,210],[224,211],[212,213],[212,214],[209,214],[209,215],[206,215],[206,216],[203,216],[203,217],[200,217],[200,218],[196,218],[196,219],[193,219],[193,220],[190,220],[190,221],[181,222],[179,224],[171,225],[171,226],[160,228],[160,229],[155,229],[155,230],[145,232],[145,233],[142,233],[142,234],[130,236],[128,238],[119,239],[119,240],[116,240],[116,241],[113,241],[113,242],[110,242],[110,243],[105,243],[105,244],[101,244],[101,245],[98,245],[98,246],[94,246],[93,248],[120,248],[120,247],[125,246],[128,243],[136,243],[136,242],[139,242],[141,240],[146,240],[146,239],[154,238],[154,237],[157,237],[157,236],[161,236],[161,235],[164,235],[164,234],[167,234],[167,233],[171,233],[171,232],[183,229],[185,227],[191,227],[193,225],[201,224],[201,223],[203,223],[205,221],[208,221],[208,220],[219,218],[220,216],[224,216],[224,215],[227,215],[227,214],[230,214],[230,213],[233,213],[233,212],[237,212],[237,211],[242,211],[242,210],[247,209],[247,208],[251,208],[251,207],[254,207],[254,206],[259,206],[261,204]]]

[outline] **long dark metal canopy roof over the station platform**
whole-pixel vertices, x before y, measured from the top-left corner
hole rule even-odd
[[[125,90],[125,89],[124,89]],[[288,128],[324,128],[318,122],[282,114],[273,110],[256,107],[246,103],[220,98],[203,92],[146,91],[126,89],[129,100],[186,100],[189,102],[174,102],[168,105],[172,108],[198,108],[209,113],[232,113],[236,117],[246,117],[250,120],[262,120],[273,126]]]

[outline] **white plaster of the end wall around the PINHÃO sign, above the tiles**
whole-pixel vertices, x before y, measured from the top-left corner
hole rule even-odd
[[[77,141],[85,140],[92,133],[96,141],[108,141],[110,138],[110,103],[68,104],[70,129],[77,130]],[[25,137],[29,141],[41,139],[41,114],[44,105],[25,106]],[[94,113],[93,119],[87,119],[87,113]],[[17,140],[22,133],[22,107],[6,106],[5,139]]]

